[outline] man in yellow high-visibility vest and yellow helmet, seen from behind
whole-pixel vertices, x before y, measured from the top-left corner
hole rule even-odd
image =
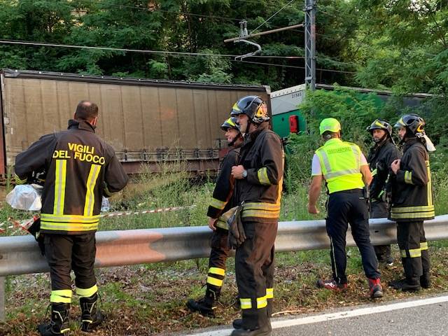
[[[325,144],[314,154],[311,168],[308,212],[318,214],[316,202],[324,180],[327,188],[327,218],[325,225],[330,237],[332,279],[318,279],[319,288],[344,291],[347,288],[346,231],[348,224],[360,251],[369,295],[382,297],[378,262],[370,243],[369,216],[365,187],[372,181],[367,160],[356,144],[341,140],[341,125],[335,118],[325,118],[319,126]]]

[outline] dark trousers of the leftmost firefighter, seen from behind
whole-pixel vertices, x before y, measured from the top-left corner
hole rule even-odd
[[[75,273],[76,294],[90,297],[97,293],[94,260],[95,234],[44,234],[45,258],[50,266],[52,303],[71,302],[71,277]]]

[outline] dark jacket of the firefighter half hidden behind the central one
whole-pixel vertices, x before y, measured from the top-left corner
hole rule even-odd
[[[233,205],[233,187],[235,179],[232,177],[232,167],[238,165],[239,148],[233,148],[229,151],[221,167],[219,168],[218,179],[216,179],[216,186],[213,192],[213,197],[207,211],[207,216],[210,218],[218,218],[216,226],[228,230],[227,219],[221,216]]]

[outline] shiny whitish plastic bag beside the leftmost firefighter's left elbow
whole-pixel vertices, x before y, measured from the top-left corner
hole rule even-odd
[[[21,184],[6,195],[6,202],[14,209],[39,211],[42,208],[42,186]]]

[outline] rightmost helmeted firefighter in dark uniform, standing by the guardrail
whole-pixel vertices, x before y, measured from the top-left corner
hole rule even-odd
[[[401,160],[392,162],[392,204],[389,219],[397,222],[397,240],[405,279],[391,281],[395,289],[429,288],[430,261],[423,221],[433,219],[434,204],[424,120],[416,114],[402,116],[395,124],[403,145]],[[432,145],[432,143],[431,143]]]

